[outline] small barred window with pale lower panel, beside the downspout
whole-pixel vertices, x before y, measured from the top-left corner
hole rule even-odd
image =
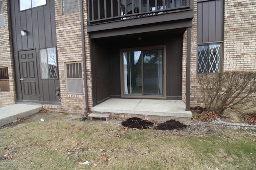
[[[66,64],[67,92],[83,93],[82,63]]]

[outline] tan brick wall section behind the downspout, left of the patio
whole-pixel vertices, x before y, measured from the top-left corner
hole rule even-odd
[[[87,23],[87,6],[83,2],[84,27]],[[79,7],[80,9],[80,7]],[[58,49],[58,66],[60,75],[61,109],[67,113],[84,113],[86,110],[85,90],[83,94],[68,94],[66,88],[66,63],[83,63],[80,12],[62,15],[61,0],[55,0],[55,20]],[[92,107],[92,85],[90,67],[90,49],[88,35],[85,32],[86,43],[86,73],[88,83],[89,107]],[[82,64],[82,73],[84,65]],[[83,81],[84,86],[84,81]]]

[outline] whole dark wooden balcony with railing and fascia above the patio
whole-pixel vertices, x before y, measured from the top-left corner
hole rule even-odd
[[[90,38],[192,26],[193,0],[88,0]]]

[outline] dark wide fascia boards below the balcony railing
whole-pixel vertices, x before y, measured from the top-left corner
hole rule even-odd
[[[152,31],[192,27],[193,11],[173,12],[96,25],[87,25],[90,38],[112,37]]]

